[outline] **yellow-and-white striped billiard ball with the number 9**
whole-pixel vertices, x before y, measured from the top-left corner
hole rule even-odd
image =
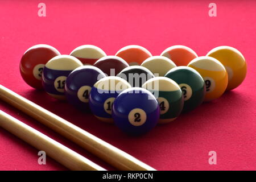
[[[211,101],[220,97],[228,85],[228,73],[224,65],[217,59],[201,56],[193,59],[188,67],[196,69],[203,77],[206,87],[204,101]]]

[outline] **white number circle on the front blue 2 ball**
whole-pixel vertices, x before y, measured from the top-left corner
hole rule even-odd
[[[147,114],[144,110],[135,108],[130,111],[128,114],[128,119],[131,125],[133,126],[141,126],[146,122]]]

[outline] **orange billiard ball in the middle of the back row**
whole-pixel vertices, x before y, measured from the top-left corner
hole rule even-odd
[[[121,48],[115,56],[122,57],[129,65],[141,65],[144,60],[152,55],[144,47],[131,45]]]

